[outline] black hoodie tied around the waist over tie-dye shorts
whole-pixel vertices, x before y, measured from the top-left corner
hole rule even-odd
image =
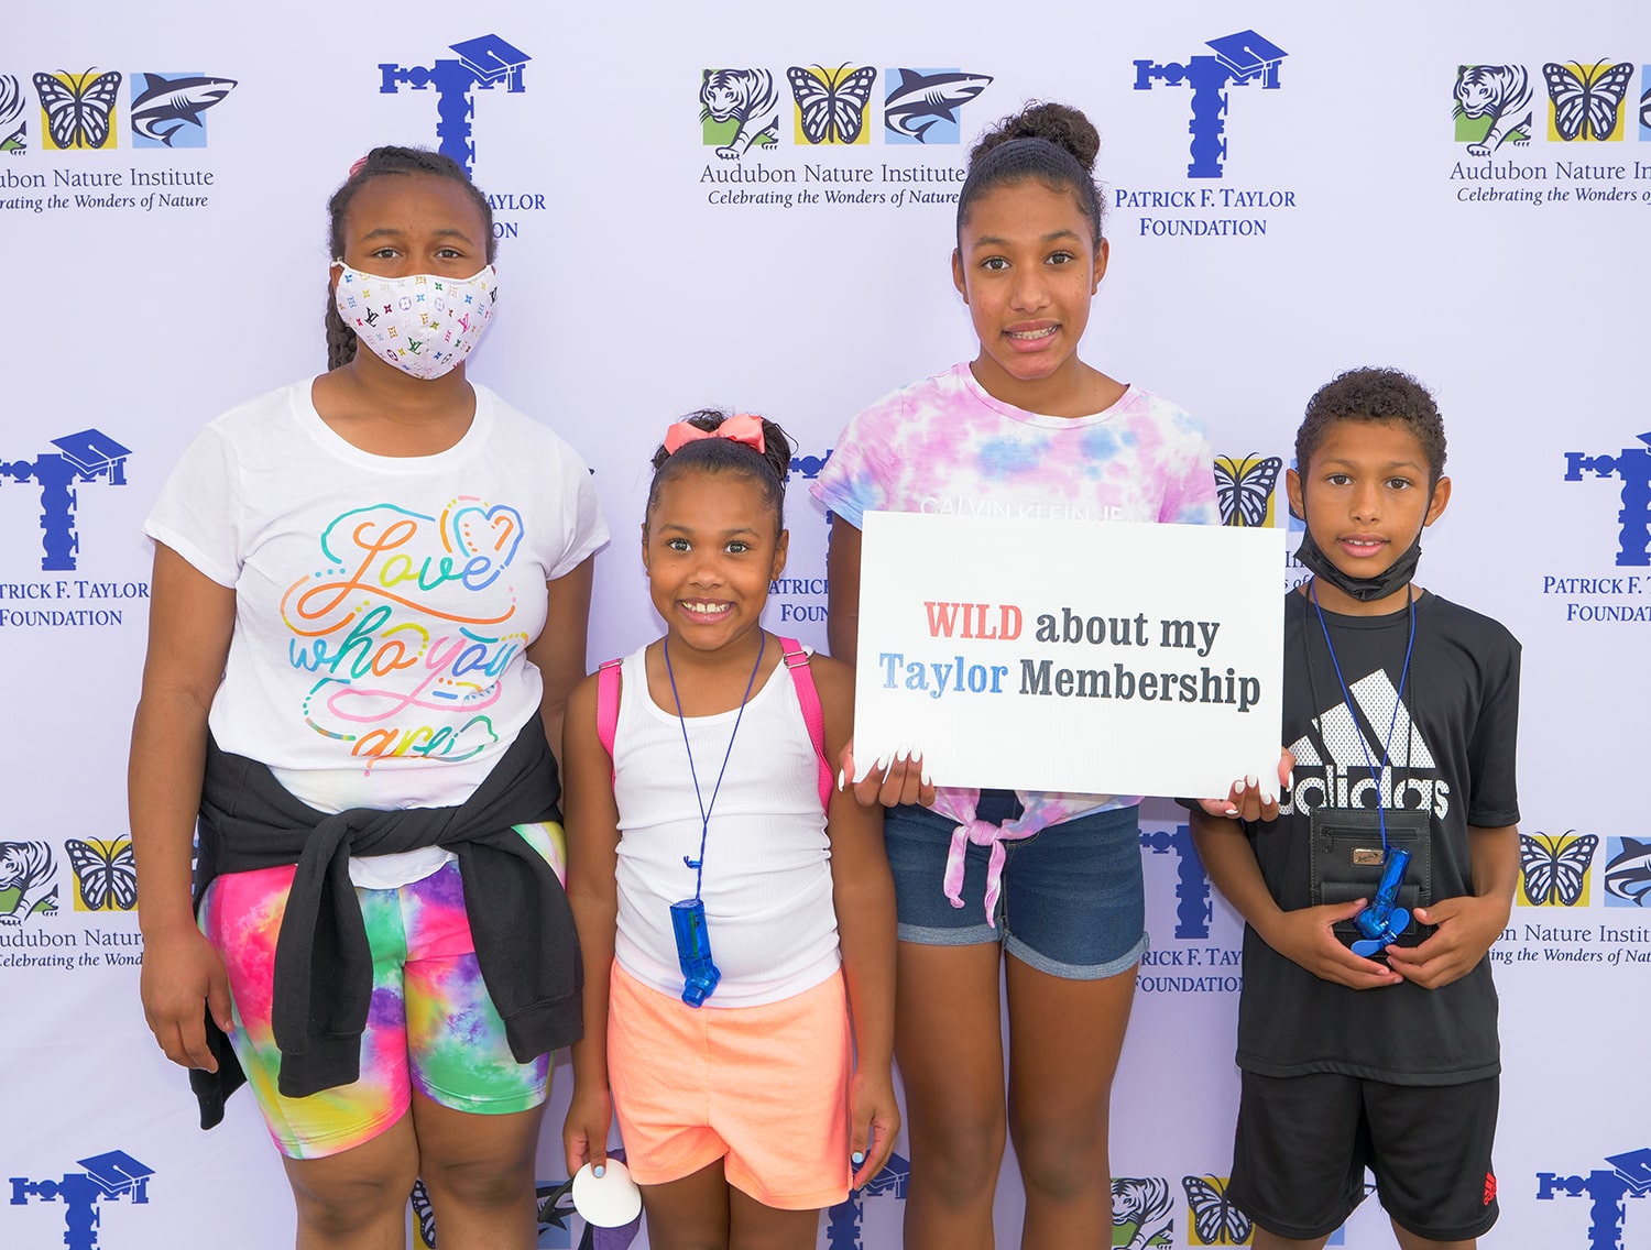
[[[513,829],[561,821],[556,760],[540,717],[522,728],[456,807],[352,807],[329,816],[294,798],[266,765],[206,745],[195,905],[215,877],[297,864],[276,943],[274,1034],[279,1090],[304,1098],[360,1078],[373,959],[350,883],[352,855],[446,847],[459,860],[482,982],[518,1063],[583,1035],[584,969],[573,911],[556,874]],[[218,1072],[190,1072],[201,1128],[223,1120],[246,1080],[206,1014]]]

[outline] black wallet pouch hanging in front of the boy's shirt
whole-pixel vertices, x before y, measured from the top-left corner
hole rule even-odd
[[[1387,844],[1408,850],[1410,865],[1398,885],[1395,907],[1412,915],[1418,907],[1433,905],[1433,821],[1426,811],[1384,811],[1372,807],[1319,807],[1313,812],[1313,905],[1351,903],[1354,898],[1375,902],[1387,857],[1382,852],[1382,817],[1387,821]],[[1433,935],[1433,925],[1418,920],[1398,935],[1395,946],[1420,946]],[[1336,925],[1336,936],[1352,945],[1364,935],[1351,920]]]

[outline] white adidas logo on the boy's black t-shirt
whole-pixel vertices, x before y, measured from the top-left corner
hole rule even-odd
[[[1410,718],[1410,710],[1398,702],[1387,672],[1377,669],[1354,682],[1351,692],[1357,713],[1347,703],[1337,703],[1314,720],[1317,735],[1304,733],[1289,745],[1289,753],[1296,756],[1296,788],[1289,801],[1280,804],[1280,814],[1380,806],[1431,811],[1443,819],[1450,811],[1450,783],[1438,776],[1433,751]],[[1319,753],[1319,741],[1329,760]],[[1388,745],[1388,768],[1379,788],[1370,765],[1380,765]]]

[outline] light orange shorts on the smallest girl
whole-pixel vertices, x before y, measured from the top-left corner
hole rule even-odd
[[[641,1186],[723,1161],[764,1207],[849,1197],[849,999],[842,973],[761,1007],[690,1007],[613,968],[608,1078]]]

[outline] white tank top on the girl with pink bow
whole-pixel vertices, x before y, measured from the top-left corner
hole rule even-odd
[[[721,984],[707,1007],[779,1002],[842,963],[819,756],[786,665],[745,705],[712,806],[735,715],[687,718],[700,794],[712,812],[700,897]],[[670,905],[693,898],[695,874],[682,859],[700,854],[700,807],[682,722],[649,697],[642,651],[621,667],[614,801],[621,834],[614,953],[631,976],[675,997],[682,968]]]

